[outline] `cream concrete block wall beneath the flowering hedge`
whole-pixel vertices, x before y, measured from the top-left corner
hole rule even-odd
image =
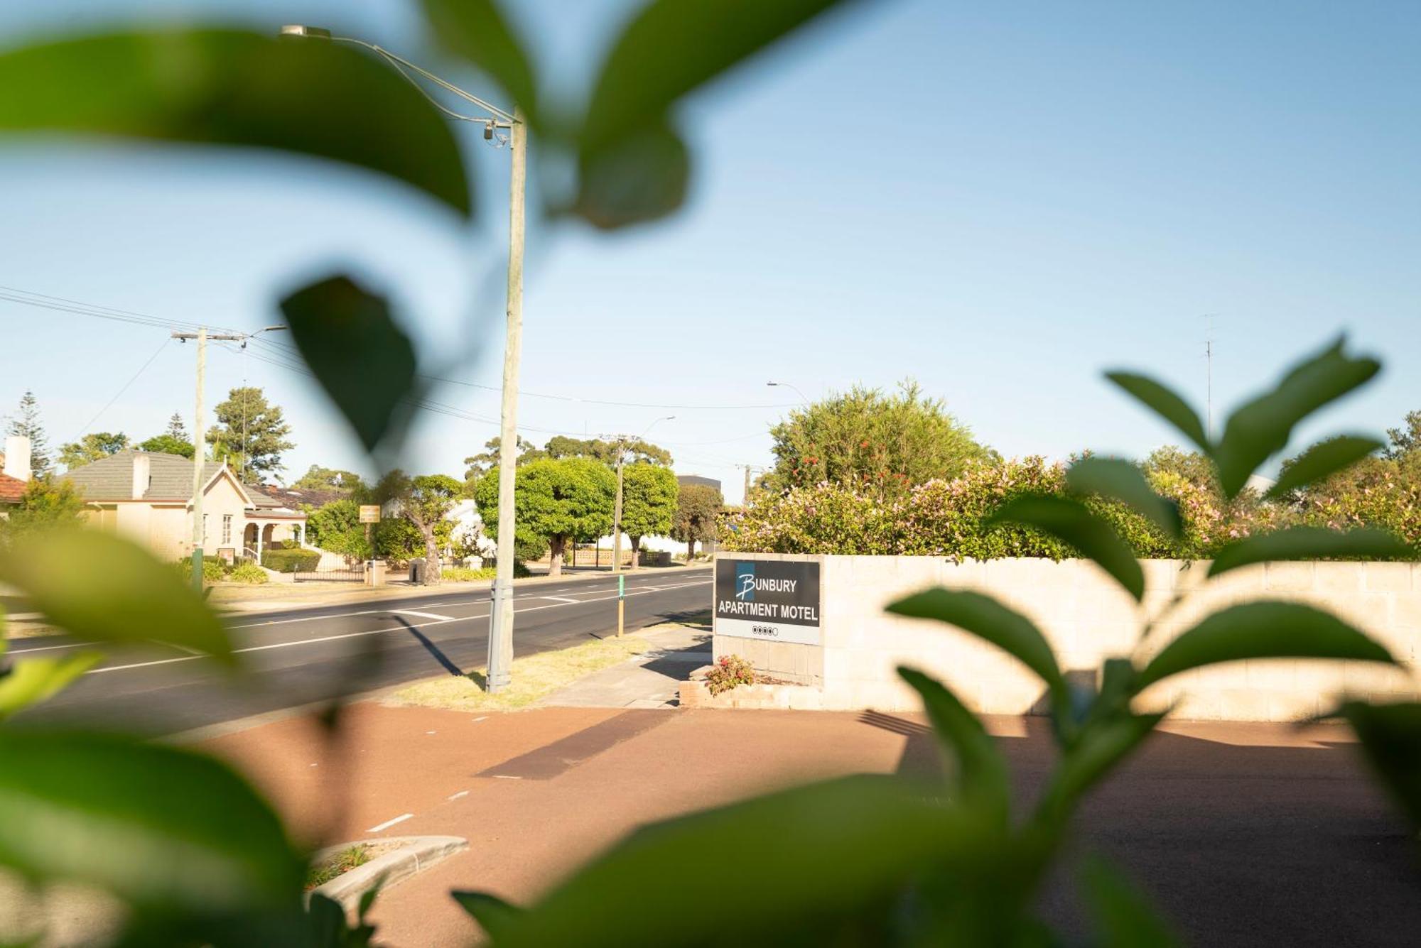
[[[1175,717],[1179,718],[1295,721],[1327,710],[1344,693],[1376,700],[1421,697],[1421,676],[1415,673],[1421,640],[1421,565],[1268,563],[1205,580],[1208,563],[1148,561],[1148,593],[1144,603],[1137,605],[1088,561],[811,559],[821,563],[823,646],[791,649],[821,651],[820,704],[824,708],[917,710],[915,693],[895,674],[899,664],[941,677],[971,708],[983,714],[1029,714],[1042,708],[1040,683],[1003,651],[942,623],[884,613],[884,606],[894,599],[938,585],[992,595],[1026,614],[1046,634],[1067,674],[1093,676],[1114,656],[1147,658],[1205,614],[1255,599],[1306,602],[1333,612],[1373,636],[1407,666],[1400,670],[1350,661],[1238,661],[1162,681],[1140,697],[1141,710],[1178,702]],[[1145,623],[1151,623],[1151,630],[1141,641],[1140,630]],[[793,661],[800,676],[814,661],[809,651],[796,653],[793,658],[750,656],[746,640],[718,636],[715,654],[726,653],[743,654],[772,673],[776,673],[773,661]],[[762,664],[766,658],[773,661]],[[803,678],[796,676],[794,680]]]

